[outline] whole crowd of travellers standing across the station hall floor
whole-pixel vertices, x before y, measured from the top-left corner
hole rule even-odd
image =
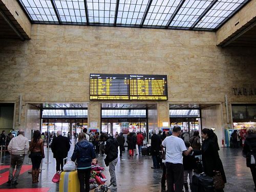
[[[187,136],[186,133],[181,134],[181,127],[174,126],[172,132],[161,132],[156,134],[155,130],[151,131],[151,156],[153,166],[151,168],[163,169],[161,179],[162,191],[189,191],[191,188],[192,176],[195,173],[204,172],[207,176],[214,177],[220,174],[224,183],[226,183],[226,176],[224,168],[219,157],[218,138],[214,131],[210,129],[202,130],[202,144],[200,142],[199,132],[195,131],[192,137]],[[252,127],[247,130],[247,138],[244,143],[243,155],[246,157],[246,164],[251,170],[252,178],[256,190],[256,128]],[[30,152],[29,157],[32,161],[32,183],[38,182],[39,167],[42,158],[45,158],[44,153],[44,138],[40,131],[34,131],[31,142],[25,137],[23,130],[18,131],[18,136],[11,138],[8,145],[8,151],[11,155],[10,169],[8,183],[18,184],[18,176],[22,167],[25,155]],[[2,132],[1,141],[5,136]],[[69,136],[69,135],[68,135]],[[62,136],[61,131],[58,131],[51,143],[53,157],[56,160],[56,172],[63,170],[63,159],[68,156],[70,150],[70,137]],[[145,139],[143,133],[129,132],[127,134],[127,150],[130,156],[141,154],[141,146]],[[4,138],[6,141],[6,136]],[[101,144],[103,147],[101,148]],[[90,190],[90,173],[92,166],[97,164],[96,155],[105,156],[105,165],[109,166],[110,185],[109,188],[117,188],[115,167],[118,162],[118,147],[119,155],[122,156],[125,139],[123,133],[116,133],[115,136],[107,133],[98,132],[95,134],[87,134],[87,129],[83,129],[78,134],[78,142],[75,144],[74,152],[71,157],[72,161],[77,163],[77,173],[80,182],[80,191]],[[136,145],[138,147],[136,147]],[[61,147],[58,147],[61,146]],[[137,150],[136,150],[137,148]],[[203,170],[198,170],[200,155]],[[16,166],[16,171],[14,169]],[[97,167],[99,165],[97,164]],[[105,178],[101,178],[106,180]],[[167,190],[165,184],[167,183]],[[85,186],[85,187],[83,187]],[[223,188],[216,189],[216,192],[223,191]]]

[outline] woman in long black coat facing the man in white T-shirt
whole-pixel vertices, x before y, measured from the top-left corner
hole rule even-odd
[[[224,172],[224,168],[217,151],[217,147],[215,142],[209,138],[210,130],[203,129],[202,130],[202,137],[204,139],[202,143],[202,162],[204,167],[204,173],[210,177],[215,175],[215,172],[220,172],[224,182],[226,183],[226,176]],[[216,190],[216,192],[221,192],[221,190]]]

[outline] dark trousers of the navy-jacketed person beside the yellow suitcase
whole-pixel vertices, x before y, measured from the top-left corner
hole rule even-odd
[[[91,168],[87,169],[77,169],[77,175],[80,183],[80,192],[89,192],[90,191],[90,175]],[[84,184],[86,189],[84,190]]]

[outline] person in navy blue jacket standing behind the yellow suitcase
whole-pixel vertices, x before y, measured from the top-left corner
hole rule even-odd
[[[76,160],[77,174],[80,183],[80,192],[90,191],[90,174],[92,159],[95,159],[95,151],[93,144],[86,139],[85,133],[79,133],[78,142],[75,145],[72,161]],[[84,184],[86,189],[84,189]]]

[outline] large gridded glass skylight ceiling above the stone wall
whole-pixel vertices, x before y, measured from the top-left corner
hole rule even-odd
[[[32,24],[217,30],[250,0],[17,0]]]

